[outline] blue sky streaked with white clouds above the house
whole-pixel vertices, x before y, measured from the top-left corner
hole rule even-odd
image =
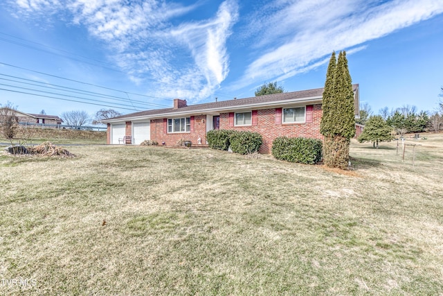
[[[432,111],[443,1],[3,0],[0,104],[126,114],[254,96],[264,82],[312,89],[342,50],[374,113]]]

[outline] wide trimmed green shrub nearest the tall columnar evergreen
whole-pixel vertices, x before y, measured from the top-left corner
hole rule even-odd
[[[302,164],[316,164],[322,157],[322,141],[310,138],[278,137],[272,143],[276,159]]]

